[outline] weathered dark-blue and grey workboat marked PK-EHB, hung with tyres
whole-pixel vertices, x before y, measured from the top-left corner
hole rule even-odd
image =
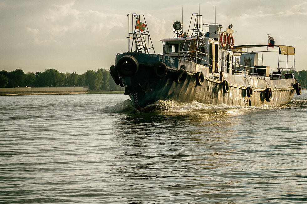
[[[175,37],[160,40],[163,53],[156,54],[144,15],[127,17],[128,51],[116,54],[110,73],[138,110],[158,100],[278,107],[301,94],[292,46],[234,45],[232,25],[225,31],[193,13],[187,32],[174,22]],[[276,67],[264,63],[272,53]]]

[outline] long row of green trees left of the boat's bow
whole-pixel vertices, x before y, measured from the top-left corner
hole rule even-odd
[[[89,90],[118,91],[123,90],[113,81],[110,71],[100,68],[97,71],[88,70],[83,74],[47,69],[44,72],[24,73],[22,69],[7,72],[0,71],[0,87],[67,87],[88,86]]]

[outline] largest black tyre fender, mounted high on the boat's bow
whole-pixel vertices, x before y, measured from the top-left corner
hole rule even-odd
[[[117,70],[120,75],[131,77],[138,72],[138,60],[131,55],[125,55],[118,60]]]

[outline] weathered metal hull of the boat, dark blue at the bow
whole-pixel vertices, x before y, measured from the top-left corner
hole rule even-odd
[[[186,60],[178,60],[175,57],[163,59],[159,55],[129,52],[117,55],[116,65],[119,59],[125,55],[133,56],[139,62],[138,71],[128,77],[122,76],[120,72],[117,73],[125,87],[125,94],[129,95],[134,106],[139,110],[158,100],[175,100],[187,103],[197,101],[204,104],[243,107],[278,107],[289,103],[295,92],[294,78],[270,80],[268,77],[262,77],[257,79],[225,72],[214,75],[209,72],[209,67]],[[157,78],[154,75],[153,65],[156,62],[166,64],[167,74],[165,77]],[[183,83],[178,84],[175,82],[178,77],[177,73],[183,65],[187,76]],[[204,73],[204,81],[201,86],[196,83],[196,71]],[[223,81],[228,82],[229,88],[227,90],[225,90]],[[252,96],[247,92],[248,87],[252,87]],[[266,96],[268,88],[271,89],[270,101]]]

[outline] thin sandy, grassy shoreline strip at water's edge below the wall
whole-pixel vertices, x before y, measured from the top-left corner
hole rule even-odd
[[[93,91],[93,92],[0,92],[0,96],[29,95],[75,95],[75,94],[122,94],[124,91]]]

